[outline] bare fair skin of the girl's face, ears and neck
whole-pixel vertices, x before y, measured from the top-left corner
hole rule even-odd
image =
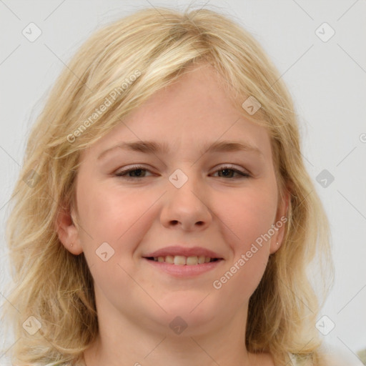
[[[244,334],[249,297],[285,225],[219,290],[212,283],[285,216],[288,197],[282,202],[277,194],[266,129],[233,107],[210,66],[190,71],[81,154],[76,207],[59,215],[62,244],[84,252],[94,278],[99,336],[84,352],[87,366],[274,365],[267,353],[247,352]],[[170,152],[114,149],[97,159],[115,144],[139,140],[167,143]],[[217,140],[248,142],[261,154],[202,154]],[[147,170],[127,174],[131,180],[115,175],[132,164]],[[249,177],[225,176],[224,164]],[[169,181],[176,169],[188,177],[180,188]],[[114,249],[107,262],[96,254],[103,242]],[[224,260],[188,279],[142,258],[174,244],[212,249]],[[169,327],[177,316],[187,324],[179,335]]]

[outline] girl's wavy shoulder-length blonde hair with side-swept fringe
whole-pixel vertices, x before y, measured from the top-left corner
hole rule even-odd
[[[81,150],[203,63],[225,80],[243,117],[267,129],[280,198],[291,193],[282,246],[249,301],[247,349],[271,352],[279,366],[289,352],[321,365],[315,322],[322,303],[307,268],[319,256],[322,283],[332,274],[330,229],[302,160],[290,94],[254,37],[229,16],[160,7],[96,31],[62,71],[31,130],[6,226],[14,289],[5,307],[19,338],[11,349],[17,366],[77,362],[98,332],[84,254],[67,251],[55,229],[60,210],[74,202]],[[242,107],[248,97],[261,104],[255,114]],[[41,324],[34,335],[22,326],[30,316]]]

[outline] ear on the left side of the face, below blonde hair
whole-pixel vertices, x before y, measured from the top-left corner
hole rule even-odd
[[[60,242],[72,254],[79,255],[83,252],[80,244],[79,228],[76,227],[74,209],[62,208],[56,217],[56,232]]]

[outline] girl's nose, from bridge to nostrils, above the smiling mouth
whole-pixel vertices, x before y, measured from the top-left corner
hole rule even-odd
[[[164,227],[181,227],[185,231],[203,230],[212,222],[207,189],[193,177],[188,177],[182,187],[170,182],[169,191],[164,194],[161,222]]]

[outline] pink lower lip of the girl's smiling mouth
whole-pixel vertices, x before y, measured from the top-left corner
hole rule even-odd
[[[202,274],[205,272],[209,272],[217,266],[221,265],[221,262],[224,262],[223,259],[217,260],[215,262],[202,263],[202,264],[192,264],[192,265],[179,265],[179,264],[170,264],[167,262],[155,262],[154,260],[144,258],[147,262],[149,262],[152,266],[157,269],[160,269],[164,272],[172,274],[176,277],[193,277],[198,274]]]

